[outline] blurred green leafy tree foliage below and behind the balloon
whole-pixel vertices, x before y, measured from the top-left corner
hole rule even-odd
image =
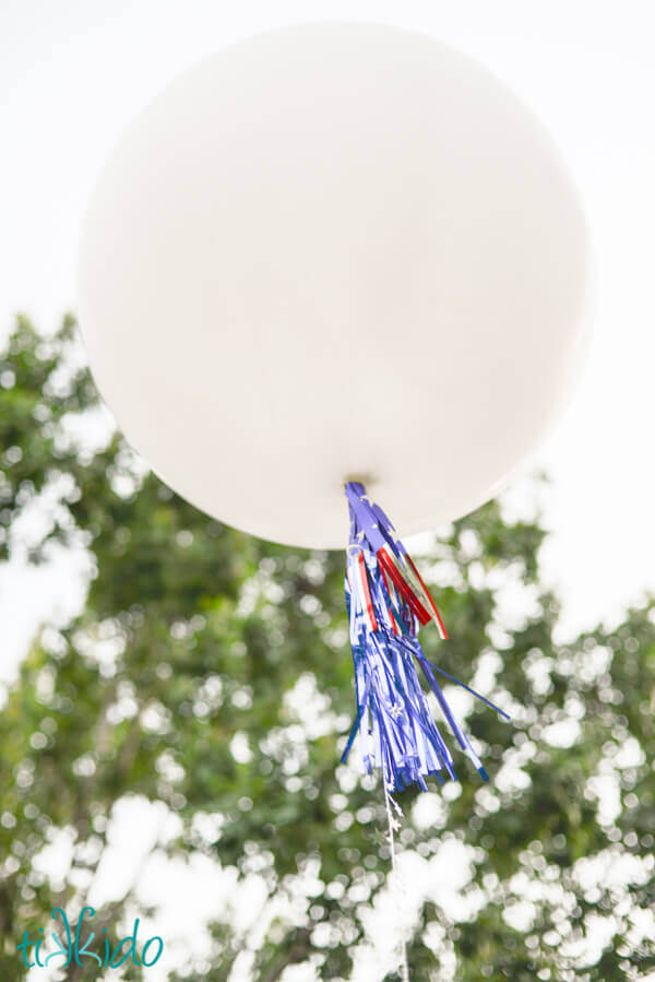
[[[41,626],[0,713],[0,977],[23,978],[24,930],[36,933],[56,906],[80,909],[115,804],[143,795],[178,816],[170,855],[233,867],[237,896],[249,876],[265,885],[257,943],[226,912],[209,966],[190,957],[175,978],[238,969],[273,982],[299,965],[296,978],[348,979],[389,847],[379,784],[338,765],[354,712],[343,556],[219,524],[116,433],[90,446],[75,424],[98,400],[71,317],[50,339],[20,318],[0,386],[1,558],[27,548],[32,510],[47,521],[31,561],[71,548],[93,561],[83,613]],[[413,868],[439,879],[444,845],[471,867],[467,910],[437,890],[420,899],[416,979],[607,982],[655,968],[655,602],[614,630],[557,643],[558,602],[537,565],[544,535],[538,519],[505,520],[492,501],[421,559],[452,639],[424,630],[428,658],[466,683],[478,674],[512,723],[466,703],[491,783],[462,759],[461,784],[401,796]],[[503,615],[508,583],[524,600],[521,623]],[[57,884],[34,860],[64,828],[73,862]],[[128,892],[98,911],[96,930],[127,922],[133,903]],[[64,977],[97,978],[97,966]]]

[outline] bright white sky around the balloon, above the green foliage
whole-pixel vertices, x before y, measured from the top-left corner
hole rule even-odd
[[[568,414],[532,464],[553,478],[544,560],[567,626],[614,619],[644,588],[655,590],[648,0],[2,0],[0,332],[16,310],[50,329],[74,309],[76,236],[91,185],[159,88],[225,42],[337,17],[414,27],[477,57],[533,107],[577,181],[595,250],[595,333]],[[521,506],[520,484],[513,497]],[[15,613],[20,600],[26,625],[51,599],[44,580],[41,600],[27,601],[25,583],[0,576],[1,606]]]

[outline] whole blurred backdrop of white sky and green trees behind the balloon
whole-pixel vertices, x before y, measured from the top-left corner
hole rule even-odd
[[[596,263],[564,423],[498,501],[412,543],[452,638],[426,630],[428,656],[512,723],[449,693],[492,782],[462,766],[402,796],[400,885],[379,784],[337,765],[343,557],[172,495],[116,434],[62,316],[86,196],[131,116],[225,42],[340,15],[431,33],[511,84],[562,147]],[[0,978],[25,975],[25,930],[85,901],[98,934],[139,916],[141,945],[163,936],[153,980],[394,979],[401,932],[419,980],[655,978],[654,16],[5,0]],[[57,963],[29,978],[98,978]]]

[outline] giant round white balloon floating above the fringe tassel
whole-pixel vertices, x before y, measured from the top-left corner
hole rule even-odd
[[[404,534],[499,489],[562,407],[586,280],[525,106],[431,38],[333,23],[226,47],[138,117],[79,282],[100,391],[154,470],[332,548],[346,480]]]

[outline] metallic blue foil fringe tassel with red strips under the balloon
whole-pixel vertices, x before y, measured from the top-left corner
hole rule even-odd
[[[395,529],[356,481],[345,485],[350,512],[346,563],[346,606],[355,666],[357,715],[342,756],[359,733],[361,770],[382,768],[385,788],[410,784],[428,790],[426,777],[456,781],[453,757],[432,719],[416,664],[434,694],[453,736],[485,781],[488,776],[471,741],[455,720],[437,674],[463,686],[505,719],[508,714],[474,689],[429,662],[418,629],[434,620],[448,634],[437,606]]]

